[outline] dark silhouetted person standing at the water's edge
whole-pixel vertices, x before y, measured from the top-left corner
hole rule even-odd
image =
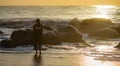
[[[43,35],[43,27],[40,23],[40,19],[36,19],[36,24],[33,25],[33,31],[34,31],[34,48],[36,50],[39,50],[39,54],[41,54],[41,46],[42,46],[42,35]]]

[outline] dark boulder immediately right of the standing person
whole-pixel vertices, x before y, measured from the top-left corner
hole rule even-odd
[[[43,43],[44,44],[61,44],[59,34],[53,28],[45,26],[43,30]]]

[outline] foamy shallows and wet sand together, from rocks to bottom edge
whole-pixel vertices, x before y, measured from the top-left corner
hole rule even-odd
[[[120,50],[114,48],[118,40],[42,46],[41,56],[34,56],[33,46],[0,48],[0,65],[2,66],[119,66]]]

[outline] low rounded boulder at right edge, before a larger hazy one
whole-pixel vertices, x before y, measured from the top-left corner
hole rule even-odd
[[[111,28],[102,28],[97,30],[94,33],[89,34],[91,37],[95,37],[98,39],[111,39],[111,38],[119,38],[119,33]]]

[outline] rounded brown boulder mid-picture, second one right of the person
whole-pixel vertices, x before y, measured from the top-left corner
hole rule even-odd
[[[62,42],[83,42],[81,33],[71,25],[64,25],[57,29]]]

